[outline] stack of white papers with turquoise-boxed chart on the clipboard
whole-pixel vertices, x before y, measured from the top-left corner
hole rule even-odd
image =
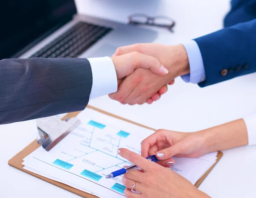
[[[78,118],[81,125],[49,152],[40,147],[24,158],[24,169],[100,198],[124,197],[122,176],[105,179],[109,173],[131,164],[116,150],[127,148],[140,154],[141,141],[154,131],[92,109],[85,109]],[[172,169],[195,184],[216,161],[216,155],[174,158]]]

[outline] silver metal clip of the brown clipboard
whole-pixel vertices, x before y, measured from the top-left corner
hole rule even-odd
[[[36,119],[38,129],[38,140],[46,151],[52,149],[71,131],[81,124],[78,118],[70,118],[62,121],[57,116]]]

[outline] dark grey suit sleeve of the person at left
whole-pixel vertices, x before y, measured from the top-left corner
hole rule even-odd
[[[83,110],[92,82],[84,58],[0,60],[0,124]]]

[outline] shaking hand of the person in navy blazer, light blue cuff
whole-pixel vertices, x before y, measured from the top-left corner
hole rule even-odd
[[[145,69],[137,69],[119,84],[116,93],[109,95],[111,99],[118,100],[122,104],[152,103],[167,91],[166,85],[173,84],[175,77],[189,73],[189,60],[183,45],[134,44],[119,47],[113,57],[131,52],[140,52],[157,58],[169,70],[169,73],[159,76]]]

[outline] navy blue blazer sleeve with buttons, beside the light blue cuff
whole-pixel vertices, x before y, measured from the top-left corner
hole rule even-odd
[[[206,80],[201,87],[256,72],[256,19],[195,39],[203,57]],[[221,71],[227,69],[225,72]]]

